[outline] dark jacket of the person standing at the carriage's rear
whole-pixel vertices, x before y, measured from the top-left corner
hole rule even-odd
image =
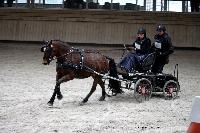
[[[167,64],[169,61],[169,55],[174,52],[174,47],[172,46],[171,38],[167,33],[162,36],[154,36],[155,43],[153,44],[153,49],[157,53],[156,60],[162,64]]]

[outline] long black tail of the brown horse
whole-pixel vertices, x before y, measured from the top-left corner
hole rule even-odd
[[[110,71],[109,76],[114,77],[114,78],[119,78],[117,74],[117,66],[115,64],[114,59],[111,59],[111,58],[108,58],[108,59],[109,59],[109,71]],[[109,79],[109,87],[116,94],[122,93],[121,83],[117,80]]]

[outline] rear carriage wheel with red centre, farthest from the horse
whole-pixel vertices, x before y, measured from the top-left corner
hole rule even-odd
[[[178,97],[180,86],[178,82],[174,80],[169,80],[165,83],[163,87],[163,95],[165,99],[175,99]]]

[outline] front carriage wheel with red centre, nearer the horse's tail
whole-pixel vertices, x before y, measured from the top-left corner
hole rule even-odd
[[[134,96],[138,102],[143,102],[144,100],[149,100],[152,94],[152,85],[151,82],[142,78],[139,79],[134,86]]]

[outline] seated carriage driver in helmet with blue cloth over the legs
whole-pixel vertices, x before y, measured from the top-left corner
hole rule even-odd
[[[146,30],[139,28],[137,32],[137,39],[132,45],[135,52],[128,53],[118,64],[117,71],[119,74],[127,75],[132,72],[134,68],[141,62],[151,50],[151,40],[146,37]]]

